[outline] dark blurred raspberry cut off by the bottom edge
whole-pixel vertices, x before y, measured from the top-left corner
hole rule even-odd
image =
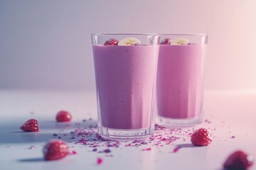
[[[228,159],[225,160],[223,167],[230,170],[243,170],[248,169],[253,164],[253,157],[245,154],[240,150],[230,154]]]

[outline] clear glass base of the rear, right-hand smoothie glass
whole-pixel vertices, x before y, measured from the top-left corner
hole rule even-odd
[[[186,119],[174,119],[174,118],[165,118],[157,116],[156,124],[165,126],[165,127],[189,127],[200,124],[203,122],[203,116],[198,116],[195,118],[186,118]]]

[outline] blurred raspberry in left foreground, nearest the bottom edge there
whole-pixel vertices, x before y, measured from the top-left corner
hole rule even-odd
[[[43,147],[43,156],[47,161],[62,159],[68,154],[68,145],[63,140],[50,140]]]

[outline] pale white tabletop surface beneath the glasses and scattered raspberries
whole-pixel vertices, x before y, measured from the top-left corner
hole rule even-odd
[[[155,140],[146,140],[146,145],[132,141],[93,141],[97,125],[95,96],[94,91],[1,90],[0,169],[217,170],[221,169],[228,154],[237,149],[256,157],[255,91],[206,91],[204,122],[193,128],[208,128],[213,134],[213,142],[207,147],[191,145],[188,134],[193,128],[158,128]],[[71,123],[55,122],[55,115],[60,110],[72,113]],[[20,126],[31,118],[38,120],[40,131],[22,132]],[[84,130],[84,137],[70,134],[78,129]],[[92,135],[86,132],[92,132]],[[58,136],[53,137],[53,134]],[[44,161],[43,145],[58,137],[68,142],[70,152],[75,151],[77,154],[58,161]],[[167,142],[157,137],[172,140],[167,145]],[[89,142],[86,145],[75,144],[81,138]],[[118,147],[108,147],[108,143]],[[31,146],[35,148],[30,149]],[[176,147],[180,147],[178,152],[174,152]],[[94,148],[97,148],[97,152],[92,152]],[[144,150],[149,148],[151,150]],[[104,149],[110,149],[111,152],[104,153]],[[97,158],[103,159],[102,164],[96,164]],[[256,166],[251,169],[256,169]]]

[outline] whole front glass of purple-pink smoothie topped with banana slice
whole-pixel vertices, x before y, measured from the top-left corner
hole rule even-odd
[[[154,133],[156,34],[92,34],[98,133],[132,140]]]

